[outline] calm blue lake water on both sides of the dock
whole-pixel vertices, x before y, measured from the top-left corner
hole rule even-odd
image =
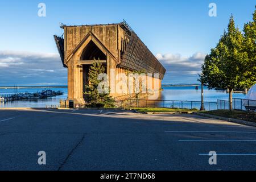
[[[0,107],[46,107],[47,105],[59,105],[60,100],[67,99],[68,90],[67,88],[47,88],[54,91],[62,91],[62,96],[56,96],[43,100],[28,100],[28,101],[13,101],[13,102],[0,102]],[[201,101],[201,88],[195,89],[195,86],[170,86],[163,87],[162,100],[183,100],[183,101]],[[46,90],[45,88],[20,88],[15,89],[0,89],[0,95],[18,93],[35,93]],[[244,94],[234,93],[234,98],[245,98]],[[204,88],[204,100],[208,102],[216,102],[217,100],[228,100],[229,94],[222,90],[208,90]]]

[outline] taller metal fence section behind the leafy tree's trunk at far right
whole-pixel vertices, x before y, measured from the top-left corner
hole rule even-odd
[[[233,98],[232,109],[235,110],[256,110],[256,101],[241,98]],[[217,100],[217,109],[229,109],[229,101]]]

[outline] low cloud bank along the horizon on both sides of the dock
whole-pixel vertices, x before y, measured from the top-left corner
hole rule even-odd
[[[166,68],[164,83],[195,83],[201,72],[204,53],[185,57],[158,53],[156,58]],[[58,53],[0,51],[0,86],[67,84],[67,68]]]

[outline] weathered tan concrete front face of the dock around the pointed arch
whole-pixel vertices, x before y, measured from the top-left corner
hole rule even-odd
[[[79,61],[90,41],[93,41],[106,55],[106,71],[113,81],[110,95],[113,97],[129,96],[128,92],[118,92],[118,82],[122,79],[119,73],[124,75],[127,73],[126,69],[118,67],[124,40],[128,42],[129,36],[119,24],[64,26],[64,64],[68,67],[68,100],[74,100],[75,104],[85,103],[83,94],[85,70]],[[110,75],[110,70],[114,71],[114,77]],[[159,80],[159,89],[160,84],[161,80]],[[154,90],[154,78],[152,85]]]

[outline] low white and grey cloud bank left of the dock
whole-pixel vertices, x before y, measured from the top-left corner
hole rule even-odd
[[[2,85],[67,84],[67,69],[58,53],[0,51]]]

